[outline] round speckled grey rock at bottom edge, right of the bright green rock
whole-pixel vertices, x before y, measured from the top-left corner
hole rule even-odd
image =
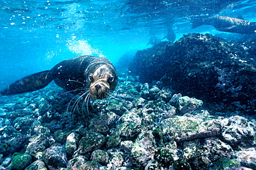
[[[53,146],[46,149],[43,153],[42,159],[49,167],[54,168],[66,167],[68,162],[66,158],[66,151],[60,144],[53,144]]]

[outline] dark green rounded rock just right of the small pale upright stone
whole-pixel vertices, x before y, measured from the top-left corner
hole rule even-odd
[[[79,147],[75,151],[74,155],[84,154],[91,152],[95,149],[100,149],[102,145],[106,142],[104,135],[95,132],[88,132],[83,135],[79,141]]]

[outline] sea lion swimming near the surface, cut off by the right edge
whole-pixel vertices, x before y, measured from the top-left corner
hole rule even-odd
[[[256,34],[256,22],[246,21],[232,17],[214,16],[208,18],[195,18],[192,20],[192,28],[201,25],[211,25],[223,32],[235,32],[240,34]]]

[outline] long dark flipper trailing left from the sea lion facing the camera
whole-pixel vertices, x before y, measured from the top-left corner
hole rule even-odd
[[[54,77],[51,74],[51,70],[45,70],[17,80],[0,93],[2,95],[14,95],[18,93],[36,91],[47,86],[53,79]]]

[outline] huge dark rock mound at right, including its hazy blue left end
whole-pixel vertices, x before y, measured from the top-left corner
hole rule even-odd
[[[173,45],[163,42],[138,51],[129,69],[140,75],[140,82],[161,80],[182,95],[253,111],[255,66],[243,46],[193,33]]]

